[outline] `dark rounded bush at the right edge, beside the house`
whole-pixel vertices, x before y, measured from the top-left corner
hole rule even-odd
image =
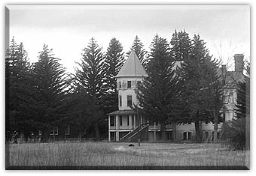
[[[246,149],[246,118],[237,118],[223,124],[221,139],[233,150]]]

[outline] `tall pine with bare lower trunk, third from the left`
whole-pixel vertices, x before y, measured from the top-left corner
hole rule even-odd
[[[78,85],[84,88],[90,97],[90,106],[84,108],[90,109],[90,121],[94,125],[96,138],[99,139],[99,124],[104,120],[103,109],[107,90],[102,48],[99,47],[94,38],[84,48],[81,63],[78,64],[80,68],[76,70],[75,76]]]

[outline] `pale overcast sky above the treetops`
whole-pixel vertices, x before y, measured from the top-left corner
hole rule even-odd
[[[69,72],[74,72],[91,37],[104,51],[116,37],[128,52],[136,35],[149,51],[155,34],[170,40],[175,29],[185,29],[206,41],[212,55],[227,58],[242,53],[250,57],[250,7],[248,5],[154,6],[8,6],[10,38],[23,42],[29,60],[38,60],[44,43]]]

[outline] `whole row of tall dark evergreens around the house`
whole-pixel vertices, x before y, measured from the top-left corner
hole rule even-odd
[[[157,34],[150,51],[136,36],[130,49],[148,73],[137,91],[139,113],[160,122],[163,132],[168,123],[194,122],[198,142],[202,140],[200,121],[213,122],[217,139],[224,79],[204,40],[175,31],[170,41]],[[108,130],[107,114],[118,109],[114,76],[129,53],[123,52],[115,37],[106,52],[92,38],[75,73],[66,73],[47,45],[38,53],[38,61],[30,64],[23,43],[17,44],[13,38],[5,59],[6,132],[16,130],[29,136],[41,130],[47,139],[51,127],[71,124],[81,134],[93,129],[99,139]],[[174,70],[177,61],[181,64]]]

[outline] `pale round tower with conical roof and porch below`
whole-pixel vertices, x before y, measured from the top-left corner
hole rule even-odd
[[[130,52],[129,57],[116,76],[118,110],[108,114],[109,141],[120,141],[145,123],[145,119],[137,117],[137,113],[131,108],[138,104],[135,90],[145,76],[148,76],[148,74],[136,53]]]

